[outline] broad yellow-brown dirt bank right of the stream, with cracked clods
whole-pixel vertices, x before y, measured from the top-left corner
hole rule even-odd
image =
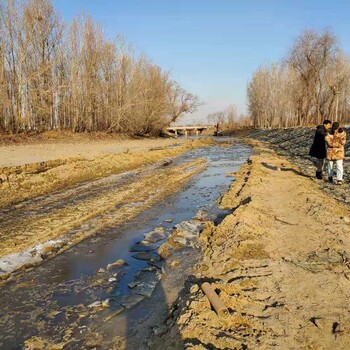
[[[150,349],[349,349],[349,207],[255,149],[222,198],[233,214],[201,235],[204,257]],[[228,317],[212,310],[203,282]]]

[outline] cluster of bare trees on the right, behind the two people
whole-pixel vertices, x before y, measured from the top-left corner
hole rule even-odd
[[[303,32],[287,57],[260,67],[247,87],[256,128],[350,120],[350,59],[329,31]]]

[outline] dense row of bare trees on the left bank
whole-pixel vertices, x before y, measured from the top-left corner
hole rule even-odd
[[[89,16],[67,25],[49,0],[0,3],[0,132],[156,134],[198,98]]]

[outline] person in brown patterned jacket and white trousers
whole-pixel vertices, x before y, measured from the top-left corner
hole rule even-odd
[[[346,143],[346,132],[339,127],[338,122],[332,124],[331,132],[326,136],[327,160],[328,160],[328,181],[336,185],[343,183],[343,159],[344,146]],[[336,167],[336,180],[333,180],[334,165]]]

